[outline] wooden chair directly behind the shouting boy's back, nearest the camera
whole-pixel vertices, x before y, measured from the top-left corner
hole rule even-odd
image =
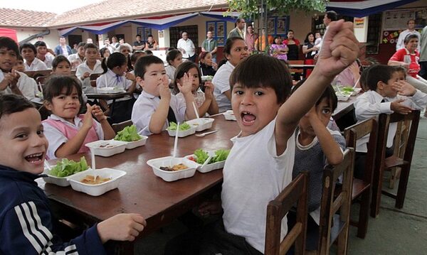
[[[265,255],[286,254],[295,242],[295,254],[305,254],[305,232],[307,228],[307,184],[308,173],[300,173],[297,178],[268,203],[265,227]],[[282,219],[297,203],[297,220],[288,229],[285,239],[280,242]]]

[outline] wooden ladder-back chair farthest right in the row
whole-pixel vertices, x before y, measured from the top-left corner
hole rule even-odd
[[[396,200],[395,207],[401,209],[404,207],[406,196],[406,188],[408,185],[409,172],[411,170],[411,162],[413,148],[416,141],[416,133],[418,131],[418,123],[420,120],[420,111],[412,111],[410,114],[380,114],[378,121],[378,146],[376,151],[376,168],[379,170],[374,172],[374,185],[372,185],[372,202],[371,202],[371,217],[376,217],[379,214],[379,206],[381,205],[381,193],[392,197]],[[405,143],[403,158],[394,154],[389,158],[385,158],[387,135],[389,134],[389,124],[405,123],[410,126],[408,138]],[[392,194],[382,190],[382,182],[384,170],[391,168],[401,168],[401,176],[397,194]]]

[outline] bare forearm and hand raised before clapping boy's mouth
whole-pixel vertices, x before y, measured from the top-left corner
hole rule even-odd
[[[169,90],[167,76],[164,75],[162,85],[160,85],[160,102],[159,107],[154,111],[151,118],[149,119],[149,131],[154,134],[162,132],[164,121],[167,120],[167,114],[169,112],[169,104],[171,102],[171,92]]]

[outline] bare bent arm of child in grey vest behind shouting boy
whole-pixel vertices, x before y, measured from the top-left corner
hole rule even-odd
[[[315,131],[317,140],[319,140],[320,146],[322,147],[323,154],[327,159],[327,163],[331,165],[338,165],[342,162],[343,155],[342,150],[338,143],[332,137],[330,131],[327,130],[326,126],[320,121],[316,113],[316,108],[312,107],[303,118],[308,118],[310,125]]]

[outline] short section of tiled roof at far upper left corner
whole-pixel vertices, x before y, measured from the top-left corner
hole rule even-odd
[[[42,27],[57,14],[46,11],[26,11],[0,8],[0,26]]]

